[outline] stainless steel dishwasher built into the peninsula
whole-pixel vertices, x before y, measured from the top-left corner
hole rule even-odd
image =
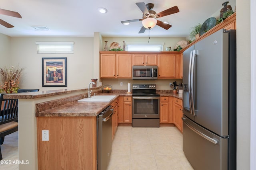
[[[106,107],[97,117],[97,162],[98,170],[106,170],[112,150],[112,114],[111,106]]]

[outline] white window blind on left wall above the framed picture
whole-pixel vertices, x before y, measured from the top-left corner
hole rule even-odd
[[[36,42],[38,54],[73,54],[74,42]]]

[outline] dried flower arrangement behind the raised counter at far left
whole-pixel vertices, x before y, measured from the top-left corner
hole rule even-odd
[[[0,76],[1,76],[1,83],[0,83],[0,93],[17,93],[19,87],[19,80],[20,76],[22,75],[22,71],[24,68],[19,68],[18,66],[11,68],[0,68]]]

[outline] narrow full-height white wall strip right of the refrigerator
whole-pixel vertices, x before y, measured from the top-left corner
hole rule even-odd
[[[236,0],[236,25],[237,170],[250,170],[250,0]]]

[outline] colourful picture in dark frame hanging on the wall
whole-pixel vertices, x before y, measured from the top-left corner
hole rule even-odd
[[[67,58],[42,58],[43,87],[67,87]]]

